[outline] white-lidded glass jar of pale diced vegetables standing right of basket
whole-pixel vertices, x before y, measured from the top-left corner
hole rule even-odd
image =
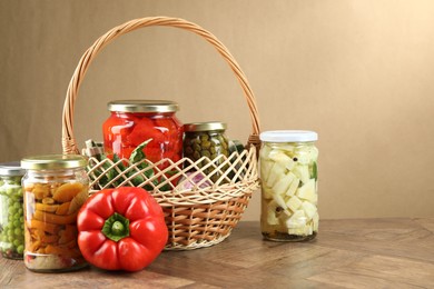
[[[266,240],[306,241],[318,232],[317,133],[260,133],[260,229]]]

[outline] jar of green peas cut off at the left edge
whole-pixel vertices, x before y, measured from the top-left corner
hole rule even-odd
[[[0,250],[9,259],[22,259],[24,218],[19,162],[0,163]]]

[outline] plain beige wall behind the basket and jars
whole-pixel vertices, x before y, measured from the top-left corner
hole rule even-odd
[[[61,109],[83,51],[147,16],[215,33],[244,69],[263,130],[319,134],[322,218],[434,217],[434,1],[0,1],[0,161],[60,152]],[[184,122],[223,120],[246,140],[231,71],[195,34],[147,28],[93,62],[79,93],[80,147],[114,99],[172,99]],[[245,220],[259,218],[256,193]]]

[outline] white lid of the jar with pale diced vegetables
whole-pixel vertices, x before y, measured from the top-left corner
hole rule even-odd
[[[310,142],[318,140],[318,134],[309,130],[270,130],[259,134],[266,142]]]

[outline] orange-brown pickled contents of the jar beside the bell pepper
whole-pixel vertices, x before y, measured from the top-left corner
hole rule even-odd
[[[59,270],[86,263],[77,245],[77,213],[88,198],[88,186],[33,182],[24,189],[26,266]]]

